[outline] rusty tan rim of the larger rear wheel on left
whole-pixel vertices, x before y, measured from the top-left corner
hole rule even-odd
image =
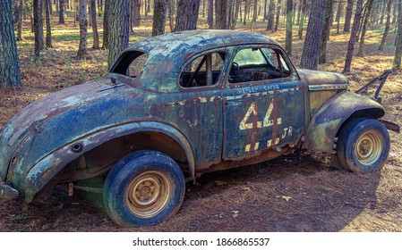
[[[171,180],[165,173],[146,171],[134,178],[125,191],[125,202],[133,214],[150,218],[161,212],[171,197]]]

